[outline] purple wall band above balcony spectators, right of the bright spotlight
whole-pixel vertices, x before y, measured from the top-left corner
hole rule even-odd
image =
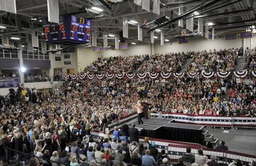
[[[49,68],[51,68],[51,61],[49,61],[49,60],[23,60],[23,66],[27,69],[32,69],[32,68],[49,69]]]

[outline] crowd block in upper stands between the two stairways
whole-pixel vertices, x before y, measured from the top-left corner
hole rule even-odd
[[[239,52],[241,49],[192,52],[188,71],[233,71]]]

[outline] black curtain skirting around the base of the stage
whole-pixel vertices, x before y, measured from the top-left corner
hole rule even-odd
[[[162,126],[156,130],[141,130],[140,135],[163,140],[205,144],[202,130],[193,130],[189,128],[173,128]]]

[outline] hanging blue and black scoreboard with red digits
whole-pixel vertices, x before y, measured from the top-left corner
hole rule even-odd
[[[45,42],[90,42],[91,20],[75,15],[61,15],[58,23],[43,24]]]

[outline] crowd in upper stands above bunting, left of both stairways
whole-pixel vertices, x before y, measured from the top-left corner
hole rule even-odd
[[[85,73],[145,73],[178,72],[188,53],[166,53],[165,55],[134,55],[129,57],[99,58],[85,68]]]

